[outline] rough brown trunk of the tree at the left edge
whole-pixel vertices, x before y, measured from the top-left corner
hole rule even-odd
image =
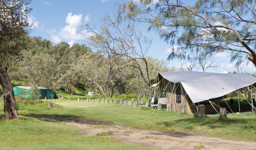
[[[0,84],[3,88],[4,98],[4,113],[5,120],[18,118],[16,102],[14,98],[14,91],[12,89],[11,79],[7,74],[7,68],[4,69],[0,64]]]

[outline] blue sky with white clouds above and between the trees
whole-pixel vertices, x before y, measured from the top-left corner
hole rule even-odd
[[[191,2],[186,0],[187,2]],[[69,44],[84,43],[84,29],[80,26],[86,22],[97,25],[97,21],[101,19],[100,15],[105,12],[111,13],[116,9],[115,3],[123,3],[126,0],[32,0],[29,5],[33,8],[30,15],[30,23],[33,23],[34,30],[30,36],[41,36],[56,44],[65,41]],[[146,26],[146,27],[145,27]],[[152,46],[148,52],[148,56],[158,59],[167,59],[168,52],[172,46],[164,43],[155,31],[147,31],[147,24],[138,26],[138,30],[143,32],[148,39],[154,39]],[[227,53],[217,54],[214,59],[219,63],[219,67],[208,69],[207,72],[227,72],[236,70],[235,64],[229,62]],[[180,67],[181,65],[174,60],[169,66]],[[242,65],[243,71],[255,72],[255,67],[251,64]],[[196,69],[194,71],[202,71]]]

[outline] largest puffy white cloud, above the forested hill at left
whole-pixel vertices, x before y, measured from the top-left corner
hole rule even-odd
[[[86,16],[89,16],[87,14]],[[67,25],[64,28],[61,28],[56,34],[51,36],[51,39],[57,44],[61,41],[68,41],[70,46],[72,46],[77,40],[84,39],[84,36],[81,33],[77,33],[77,30],[82,24],[82,14],[68,13],[66,17]]]

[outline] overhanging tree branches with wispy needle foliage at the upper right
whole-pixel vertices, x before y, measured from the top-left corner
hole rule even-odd
[[[146,22],[167,43],[178,45],[169,60],[227,52],[237,66],[246,59],[256,66],[255,5],[253,0],[197,0],[194,5],[140,0],[119,5],[118,17]]]

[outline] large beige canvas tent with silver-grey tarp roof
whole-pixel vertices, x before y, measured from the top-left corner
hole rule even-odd
[[[255,88],[255,85],[256,77],[246,73],[161,72],[150,83],[150,95],[153,96],[151,104],[156,106],[154,95],[158,95],[157,103],[172,104],[172,111],[196,114],[197,106],[205,105],[205,113],[218,113],[219,101],[227,98],[226,94],[236,90],[238,92],[243,87]],[[253,111],[255,107],[252,102],[248,103]]]

